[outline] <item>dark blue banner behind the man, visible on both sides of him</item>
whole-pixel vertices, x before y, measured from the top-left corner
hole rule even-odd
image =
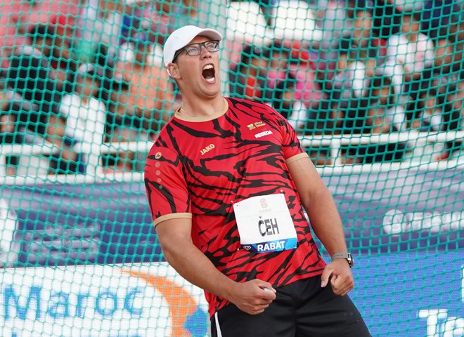
[[[352,253],[464,249],[462,169],[322,176]],[[0,199],[17,220],[16,265],[163,260],[142,182],[1,186]]]

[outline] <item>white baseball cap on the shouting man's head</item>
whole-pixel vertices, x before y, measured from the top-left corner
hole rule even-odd
[[[174,30],[174,32],[169,35],[165,42],[165,47],[163,48],[163,59],[165,61],[165,66],[169,65],[174,59],[176,51],[187,46],[190,42],[198,37],[198,35],[203,35],[209,37],[212,40],[221,41],[222,36],[214,29],[210,28],[200,28],[197,26],[183,26],[179,29]]]

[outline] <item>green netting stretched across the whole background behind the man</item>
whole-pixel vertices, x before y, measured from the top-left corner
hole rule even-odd
[[[297,130],[340,209],[373,336],[464,336],[462,1],[0,12],[1,336],[207,336],[202,291],[165,263],[143,186],[181,105],[162,45],[188,24],[223,35],[224,95]]]

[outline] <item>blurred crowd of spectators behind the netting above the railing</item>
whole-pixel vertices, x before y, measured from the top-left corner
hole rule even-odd
[[[9,30],[0,47],[0,144],[44,138],[60,149],[49,173],[84,173],[88,159],[77,144],[150,141],[172,116],[181,101],[162,46],[177,27],[202,22],[195,0],[64,2],[0,5],[11,9],[1,26]],[[271,25],[278,1],[258,3]],[[300,136],[462,130],[461,1],[307,4],[322,39],[234,44],[228,95],[271,105]],[[449,159],[461,144],[446,142],[434,159]],[[408,150],[406,142],[375,143],[341,156],[344,164],[401,161]],[[331,162],[329,147],[309,153],[316,164]],[[7,157],[8,174],[19,156]],[[120,171],[143,167],[124,151],[105,161]]]

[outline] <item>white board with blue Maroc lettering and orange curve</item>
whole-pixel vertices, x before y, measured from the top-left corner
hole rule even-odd
[[[0,336],[207,336],[204,294],[167,263],[0,270]]]

